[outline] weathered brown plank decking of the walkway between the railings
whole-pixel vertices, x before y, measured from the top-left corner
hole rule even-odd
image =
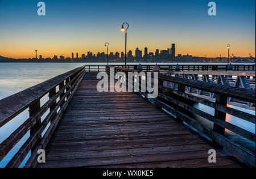
[[[96,89],[85,73],[36,167],[240,167],[183,123],[131,92]]]

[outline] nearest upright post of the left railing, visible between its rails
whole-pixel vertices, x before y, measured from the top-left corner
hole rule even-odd
[[[40,99],[38,101],[36,101],[34,104],[32,104],[30,107],[29,107],[29,112],[30,112],[30,117],[32,117],[33,115],[35,115],[36,113],[38,113],[38,110],[41,108],[40,106]],[[30,129],[30,135],[34,135],[39,127],[41,125],[41,118],[37,118],[36,119],[36,123],[34,126],[31,127]],[[38,141],[35,143],[35,145],[31,148],[31,151],[34,151],[37,144],[40,142],[40,140],[42,139],[42,137],[39,137]]]

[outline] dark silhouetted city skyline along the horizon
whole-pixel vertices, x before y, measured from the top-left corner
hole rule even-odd
[[[155,49],[155,52],[148,51],[147,46],[144,49],[136,48],[134,51],[127,50],[127,62],[139,62],[139,63],[159,63],[159,62],[255,62],[255,58],[249,54],[249,57],[236,57],[233,53],[229,54],[229,57],[198,57],[191,54],[176,54],[176,45],[171,44],[171,48],[167,49]],[[109,52],[109,51],[107,51]],[[229,50],[228,50],[229,52]],[[72,52],[71,56],[54,55],[53,57],[43,57],[39,54],[38,50],[35,50],[34,58],[5,58],[0,56],[0,62],[121,62],[125,61],[124,52],[97,52],[92,53],[90,51],[79,54],[78,52]]]

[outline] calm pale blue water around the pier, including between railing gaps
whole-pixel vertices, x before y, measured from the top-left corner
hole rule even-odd
[[[97,63],[98,64],[98,63]],[[114,63],[113,63],[114,64]],[[129,63],[133,65],[134,63]],[[142,63],[143,64],[143,63]],[[150,65],[154,65],[155,63],[147,63]],[[159,63],[160,65],[161,63]],[[176,63],[168,63],[170,65],[175,65]],[[180,63],[180,65],[183,63]],[[184,63],[187,64],[187,63]],[[191,63],[200,64],[200,63]],[[204,63],[207,64],[207,63]],[[213,64],[213,63],[210,63]],[[223,63],[215,63],[223,64]],[[225,63],[224,63],[225,64]],[[236,63],[239,64],[239,63]],[[243,64],[243,63],[240,63]],[[248,64],[248,63],[246,63]],[[16,92],[25,90],[28,87],[34,86],[35,84],[44,82],[47,79],[53,78],[56,75],[63,74],[69,70],[75,69],[76,67],[80,67],[82,65],[88,65],[86,63],[0,63],[0,100],[13,95]],[[99,63],[98,65],[105,65],[105,63]],[[41,100],[42,105],[48,100],[48,97],[45,96]],[[209,114],[214,114],[214,109],[209,108],[208,106],[202,104],[195,104],[196,108],[204,110]],[[236,107],[237,108],[237,107]],[[255,115],[255,112],[252,110],[242,109],[247,113],[251,113]],[[44,114],[46,117],[47,113]],[[13,120],[8,122],[5,126],[0,128],[0,143],[3,142],[17,127],[19,127],[24,121],[28,118],[28,110],[24,110],[19,116],[15,117]],[[198,118],[197,120],[201,120]],[[255,134],[255,125],[247,122],[241,121],[239,118],[228,115],[227,121],[234,123],[246,130],[251,131]],[[212,126],[212,123],[209,121],[201,120],[201,122],[205,123],[207,126]],[[0,162],[0,167],[5,167],[8,161],[13,157],[16,152],[19,150],[20,146],[26,141],[29,137],[29,132],[19,141],[18,144],[9,152],[9,154]],[[255,151],[255,145],[248,140],[242,139],[237,135],[233,135],[230,131],[226,131],[227,135],[236,140],[238,143],[245,144],[250,150]],[[30,157],[30,154],[27,155],[26,159]],[[26,161],[26,160],[25,160]],[[23,167],[25,161],[20,165]]]

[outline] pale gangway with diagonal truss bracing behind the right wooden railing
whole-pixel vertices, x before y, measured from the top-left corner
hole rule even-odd
[[[255,71],[169,71],[169,76],[176,76],[185,79],[200,80],[207,83],[222,84],[224,86],[246,88],[247,90],[255,90]],[[167,86],[177,88],[173,83],[167,83]],[[209,100],[214,100],[214,93],[196,90],[186,87],[185,91],[193,95],[199,95]],[[228,98],[228,104],[255,110],[253,103]],[[254,105],[254,106],[253,106]]]

